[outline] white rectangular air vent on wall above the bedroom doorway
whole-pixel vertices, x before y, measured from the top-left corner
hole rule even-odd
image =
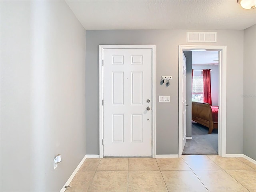
[[[193,32],[188,31],[187,42],[216,43],[217,32]]]

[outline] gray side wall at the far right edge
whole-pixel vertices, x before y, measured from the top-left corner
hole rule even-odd
[[[256,24],[244,30],[244,154],[256,160]]]

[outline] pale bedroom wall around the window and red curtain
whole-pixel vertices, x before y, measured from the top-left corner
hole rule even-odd
[[[212,106],[218,106],[219,99],[219,65],[192,65],[194,70],[211,69]],[[194,74],[203,74],[202,71],[194,71]]]

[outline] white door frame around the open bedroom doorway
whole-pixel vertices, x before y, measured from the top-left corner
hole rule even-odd
[[[182,155],[182,51],[219,51],[219,113],[218,113],[218,154],[226,156],[226,88],[227,88],[227,46],[179,45],[179,144],[178,156]]]

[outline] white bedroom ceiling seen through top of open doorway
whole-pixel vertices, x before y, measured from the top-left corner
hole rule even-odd
[[[192,51],[192,65],[218,65],[218,51]]]

